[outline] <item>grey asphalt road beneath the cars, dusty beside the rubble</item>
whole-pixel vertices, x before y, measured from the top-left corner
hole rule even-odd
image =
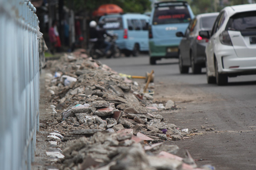
[[[179,107],[164,113],[164,118],[180,128],[198,130],[198,135],[173,142],[180,147],[177,155],[184,157],[188,150],[198,166],[212,164],[216,170],[256,170],[255,75],[229,78],[228,85],[217,86],[207,84],[205,69],[202,74],[181,75],[177,59],[149,65],[143,54],[99,61],[129,75],[145,76],[154,70],[154,102],[172,99]]]

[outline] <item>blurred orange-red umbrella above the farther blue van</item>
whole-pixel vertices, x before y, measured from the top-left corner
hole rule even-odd
[[[123,13],[122,8],[115,4],[104,4],[99,6],[97,10],[93,12],[93,16],[102,16],[105,14]]]

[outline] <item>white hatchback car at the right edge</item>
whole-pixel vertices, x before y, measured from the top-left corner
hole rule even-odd
[[[226,85],[228,77],[256,74],[256,4],[228,6],[220,11],[206,46],[207,82]]]

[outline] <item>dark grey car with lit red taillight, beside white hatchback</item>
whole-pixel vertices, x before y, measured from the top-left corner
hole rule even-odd
[[[179,45],[180,73],[188,73],[189,67],[193,74],[200,74],[205,67],[205,47],[208,39],[199,36],[199,31],[211,31],[218,12],[198,14],[191,21],[185,34],[177,32],[177,37],[183,37]]]

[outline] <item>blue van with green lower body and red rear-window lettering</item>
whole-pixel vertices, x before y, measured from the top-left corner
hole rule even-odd
[[[175,34],[185,32],[193,18],[194,14],[186,1],[154,3],[148,28],[151,65],[161,58],[178,58],[181,38]]]

